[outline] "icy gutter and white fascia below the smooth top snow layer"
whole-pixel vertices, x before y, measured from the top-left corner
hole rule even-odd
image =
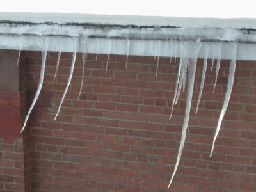
[[[218,27],[180,28],[178,26],[136,26],[120,24],[93,24],[67,22],[58,24],[54,22],[35,23],[27,21],[0,20],[0,49],[42,50],[42,38],[49,42],[48,51],[73,52],[72,42],[77,38],[77,52],[86,50],[90,53],[108,54],[109,40],[113,47],[111,54],[127,54],[129,41],[131,55],[145,56],[179,56],[171,55],[172,42],[179,47],[180,42],[196,42],[203,44],[223,43],[223,58],[230,59],[230,44],[238,42],[238,49],[243,49],[237,54],[239,60],[256,60],[256,29],[236,29]],[[62,47],[56,46],[62,42]],[[99,41],[100,40],[100,41]],[[99,45],[100,42],[100,45]],[[138,47],[145,47],[144,50]],[[193,47],[191,48],[193,49]],[[212,55],[213,57],[214,55]],[[199,58],[203,57],[202,51]],[[209,54],[211,58],[211,53]]]

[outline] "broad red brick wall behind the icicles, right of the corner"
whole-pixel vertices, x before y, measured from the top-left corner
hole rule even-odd
[[[42,53],[25,53],[20,68],[25,68],[26,83],[20,92],[28,108],[38,86]],[[70,88],[54,121],[72,60],[72,54],[61,54],[53,82],[57,56],[48,53],[44,86],[26,129],[32,191],[255,191],[255,61],[237,61],[230,104],[209,158],[229,61],[221,61],[215,93],[209,61],[195,115],[202,73],[198,60],[188,135],[168,189],[186,104],[186,92],[181,93],[169,120],[179,59],[170,63],[170,58],[160,58],[156,77],[157,58],[129,56],[125,69],[126,56],[111,55],[105,76],[107,56],[99,54],[96,60],[95,54],[88,54],[77,100],[82,74],[82,56],[77,54]]]

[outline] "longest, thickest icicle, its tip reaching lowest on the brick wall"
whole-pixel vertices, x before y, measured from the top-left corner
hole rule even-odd
[[[186,139],[186,131],[188,128],[188,121],[189,121],[189,114],[190,114],[190,108],[191,108],[191,100],[193,96],[193,88],[194,88],[194,82],[195,82],[195,74],[196,74],[196,61],[197,61],[197,56],[198,56],[198,51],[200,49],[200,43],[196,42],[195,45],[195,58],[191,59],[189,62],[189,80],[188,80],[188,93],[187,93],[187,101],[186,101],[186,109],[185,109],[185,116],[184,116],[184,122],[182,126],[182,135],[181,135],[181,140],[180,140],[180,147],[179,147],[179,152],[177,155],[177,161],[175,164],[175,168],[172,174],[172,178],[170,179],[170,183],[168,185],[168,188],[172,184],[173,177],[177,171],[177,168],[179,166],[180,162],[180,157],[182,154],[182,150],[184,148],[184,143]]]

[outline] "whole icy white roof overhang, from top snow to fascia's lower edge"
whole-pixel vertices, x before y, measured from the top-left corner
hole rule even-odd
[[[237,43],[237,59],[256,60],[256,19],[199,19],[67,13],[0,13],[0,48],[144,56],[180,56],[181,42],[200,41],[223,59]],[[60,44],[61,42],[61,44]],[[172,47],[177,47],[172,51]],[[109,50],[111,47],[111,50]],[[211,50],[211,49],[210,49]],[[209,58],[214,57],[209,52]],[[199,52],[204,57],[204,51]]]

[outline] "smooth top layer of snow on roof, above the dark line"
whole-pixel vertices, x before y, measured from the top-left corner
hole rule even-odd
[[[184,18],[134,15],[88,15],[74,13],[12,13],[0,12],[0,20],[12,22],[33,22],[56,24],[103,24],[134,26],[175,26],[181,28],[246,28],[256,29],[256,19],[217,19],[217,18]]]

